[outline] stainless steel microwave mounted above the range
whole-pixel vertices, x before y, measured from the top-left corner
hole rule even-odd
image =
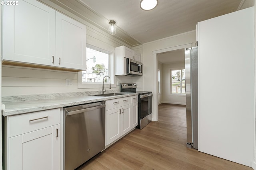
[[[142,76],[142,63],[126,59],[126,75],[127,76]]]

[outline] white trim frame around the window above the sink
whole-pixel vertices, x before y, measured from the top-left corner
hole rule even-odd
[[[114,75],[114,72],[115,72],[114,53],[104,50],[104,49],[101,49],[99,47],[95,47],[93,45],[89,45],[89,44],[87,44],[86,47],[108,54],[108,75],[110,76],[111,87],[115,88],[116,87],[116,83],[115,83],[116,78]],[[106,84],[108,84],[108,83],[106,83]],[[78,89],[80,89],[80,88],[102,88],[102,82],[82,82],[82,71],[77,73],[77,85],[78,85]]]

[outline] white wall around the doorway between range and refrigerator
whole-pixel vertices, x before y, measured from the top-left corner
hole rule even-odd
[[[195,25],[196,28],[196,25]],[[196,31],[190,31],[183,34],[175,35],[172,37],[167,37],[165,39],[160,39],[157,41],[152,41],[142,45],[142,54],[143,54],[143,65],[144,65],[144,74],[143,74],[143,90],[153,92],[153,121],[158,121],[158,102],[157,98],[157,87],[154,85],[156,81],[157,74],[157,59],[156,55],[153,55],[155,51],[163,50],[167,48],[175,48],[180,45],[185,45],[196,42]],[[179,48],[178,48],[179,49]],[[146,66],[146,67],[145,67]],[[148,83],[150,82],[150,83]],[[152,82],[152,83],[151,83]],[[155,82],[156,84],[156,82]]]

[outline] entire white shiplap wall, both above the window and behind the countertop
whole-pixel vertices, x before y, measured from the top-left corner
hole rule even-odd
[[[53,4],[49,0],[45,0],[44,2],[55,10],[84,23],[86,25],[87,44],[111,53],[114,53],[115,47],[121,45],[131,48],[126,42],[120,41],[102,29],[98,29],[68,10]],[[142,47],[137,46],[135,50],[141,53]],[[101,88],[78,89],[77,75],[77,72],[2,65],[2,96],[101,90]],[[73,85],[66,86],[66,79],[73,80]],[[136,82],[139,87],[138,89],[142,90],[142,80],[142,76],[136,78],[130,76],[116,76],[116,82],[114,83]],[[112,89],[120,89],[120,85]]]

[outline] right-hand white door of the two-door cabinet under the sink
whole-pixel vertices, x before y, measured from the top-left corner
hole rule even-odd
[[[121,135],[127,133],[131,127],[131,104],[121,108],[120,131]]]

